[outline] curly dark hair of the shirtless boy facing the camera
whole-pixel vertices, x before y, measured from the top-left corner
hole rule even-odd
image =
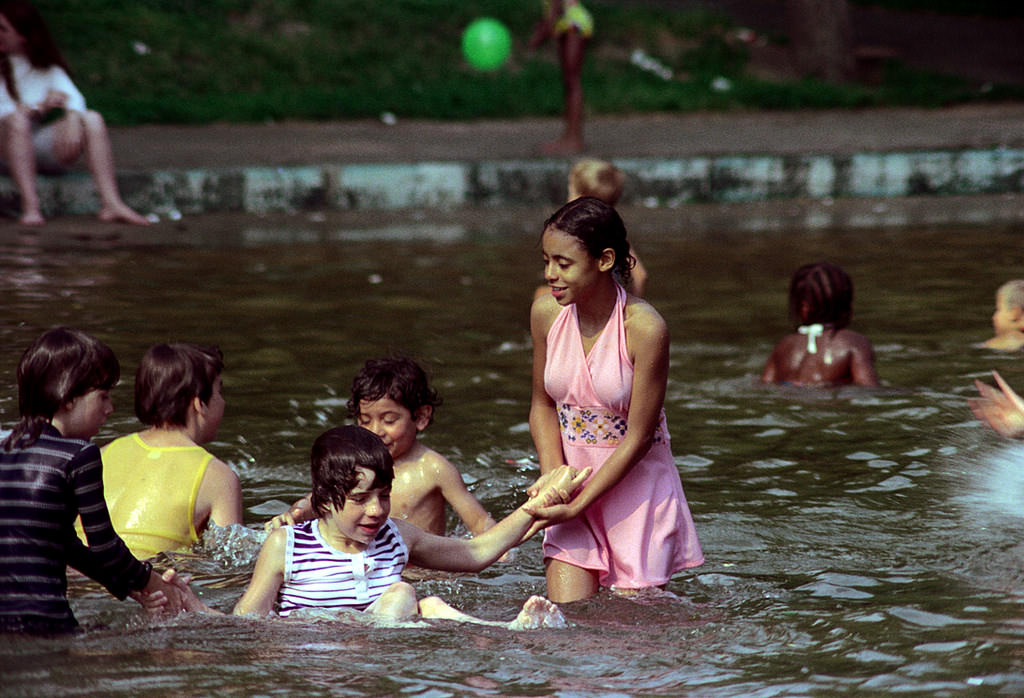
[[[370,359],[352,379],[352,391],[348,398],[348,416],[353,420],[359,416],[359,403],[373,402],[385,397],[391,398],[415,415],[424,405],[437,407],[440,397],[427,380],[427,374],[419,363],[404,356]],[[433,410],[430,412],[433,422]],[[428,423],[429,424],[429,423]]]

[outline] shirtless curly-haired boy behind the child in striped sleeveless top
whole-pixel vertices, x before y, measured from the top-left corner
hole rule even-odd
[[[445,504],[473,535],[495,525],[486,510],[466,488],[462,475],[447,459],[417,440],[433,421],[440,404],[427,376],[416,361],[404,357],[371,359],[352,380],[349,416],[377,434],[394,461],[391,504],[395,518],[443,535]],[[267,530],[312,518],[310,497],[292,505],[267,522]]]

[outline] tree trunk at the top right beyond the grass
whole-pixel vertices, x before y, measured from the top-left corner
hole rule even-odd
[[[847,0],[785,0],[797,69],[806,77],[845,82],[854,77]]]

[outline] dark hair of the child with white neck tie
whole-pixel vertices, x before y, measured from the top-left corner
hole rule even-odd
[[[807,309],[804,316],[802,309]],[[820,322],[836,330],[853,316],[853,280],[829,262],[805,264],[790,281],[790,319],[794,325]]]

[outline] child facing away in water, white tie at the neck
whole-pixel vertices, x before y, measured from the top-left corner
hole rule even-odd
[[[874,349],[847,330],[853,316],[853,281],[828,262],[806,264],[790,282],[790,317],[796,332],[772,350],[762,383],[800,386],[879,385]]]

